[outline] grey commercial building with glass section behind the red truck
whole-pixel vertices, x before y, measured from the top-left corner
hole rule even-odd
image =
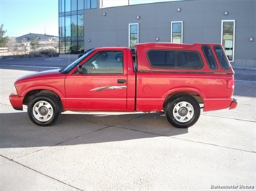
[[[142,42],[221,43],[256,67],[255,0],[59,0],[61,53]]]

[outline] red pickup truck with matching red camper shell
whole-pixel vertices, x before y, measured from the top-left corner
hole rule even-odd
[[[135,56],[133,56],[135,55]],[[219,44],[143,43],[90,50],[71,65],[14,83],[9,100],[31,121],[54,124],[63,111],[165,112],[177,128],[203,111],[237,107],[234,71]]]

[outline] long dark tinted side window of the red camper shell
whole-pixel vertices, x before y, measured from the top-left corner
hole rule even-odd
[[[150,65],[155,68],[200,69],[203,67],[199,53],[194,51],[149,50],[147,55]]]

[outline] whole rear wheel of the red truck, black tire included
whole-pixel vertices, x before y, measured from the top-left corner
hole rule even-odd
[[[175,95],[167,103],[165,116],[172,126],[188,128],[198,121],[200,106],[198,101],[190,95]]]

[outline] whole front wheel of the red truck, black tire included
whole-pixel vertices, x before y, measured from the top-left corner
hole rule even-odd
[[[61,113],[58,103],[58,99],[53,95],[37,95],[28,103],[27,114],[37,126],[50,126],[57,121]]]

